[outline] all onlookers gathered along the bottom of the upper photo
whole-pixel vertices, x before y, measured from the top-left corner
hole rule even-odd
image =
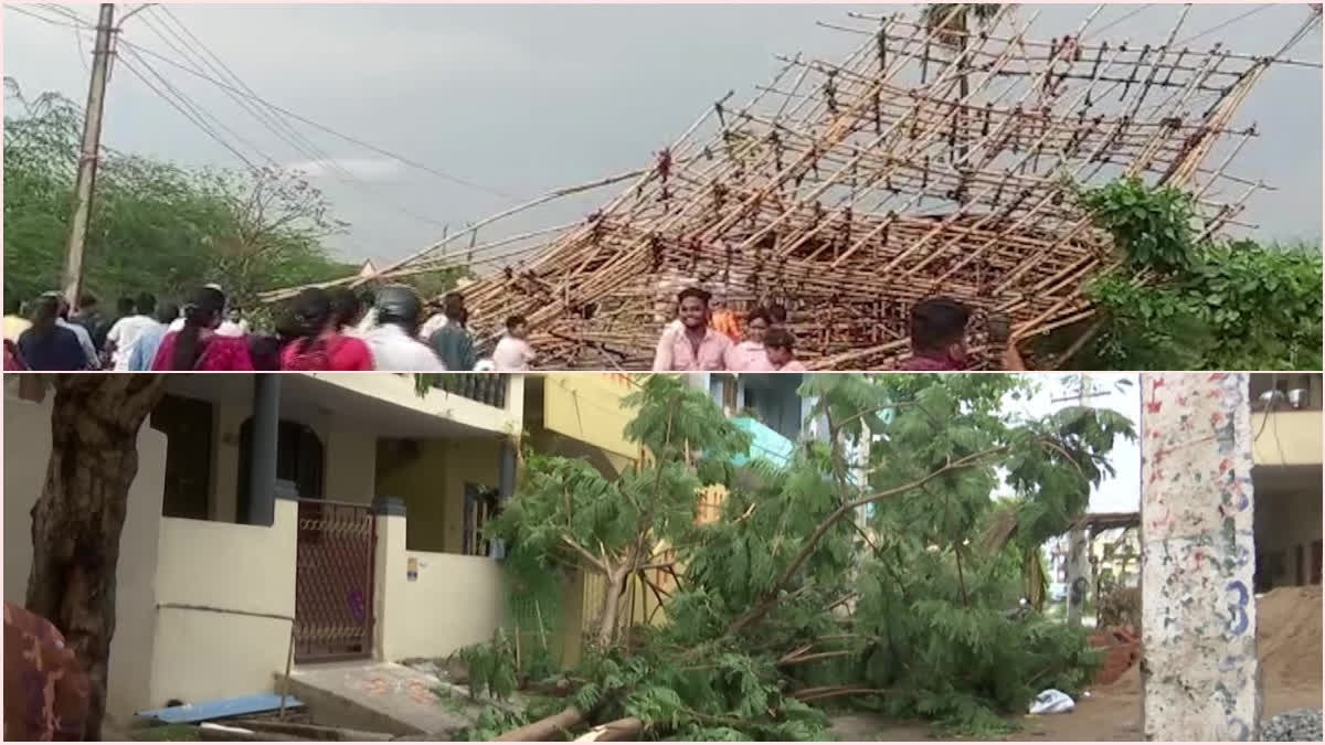
[[[61,293],[23,306],[5,297],[5,370],[37,371],[521,371],[537,353],[521,315],[481,355],[460,293],[424,302],[405,285],[371,297],[346,288],[302,290],[270,333],[249,327],[224,290],[205,285],[187,302],[158,304],[150,293],[121,298],[114,318],[97,298],[81,298],[77,313]],[[900,370],[967,369],[971,313],[943,298],[917,304],[910,314],[910,355]],[[1024,370],[1015,345],[1002,353],[1004,370]],[[717,305],[700,288],[677,294],[676,318],[659,339],[655,371],[794,372],[796,341],[780,305],[743,315]]]

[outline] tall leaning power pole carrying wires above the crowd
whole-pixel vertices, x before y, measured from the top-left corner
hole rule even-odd
[[[74,183],[73,219],[69,221],[69,244],[65,258],[65,298],[70,308],[78,308],[82,294],[83,244],[87,240],[87,220],[91,216],[93,187],[97,183],[97,162],[101,154],[101,113],[106,103],[106,73],[110,69],[110,38],[115,33],[115,5],[102,3],[97,19],[97,45],[91,54],[91,84],[87,87],[87,111],[83,114],[83,138],[78,154],[78,180]]]

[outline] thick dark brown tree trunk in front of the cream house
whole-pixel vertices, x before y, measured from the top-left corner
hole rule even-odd
[[[101,740],[115,565],[138,430],[160,399],[162,375],[58,375],[46,483],[32,508],[28,610],[65,635],[91,684],[87,740]]]

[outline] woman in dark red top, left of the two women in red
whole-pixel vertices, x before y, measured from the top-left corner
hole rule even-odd
[[[184,306],[184,327],[170,331],[156,349],[152,370],[196,370],[200,372],[250,372],[253,358],[248,339],[216,333],[225,309],[225,293],[203,288]]]

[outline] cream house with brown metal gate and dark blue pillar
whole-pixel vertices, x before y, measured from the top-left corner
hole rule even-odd
[[[441,656],[504,622],[481,533],[514,487],[525,378],[171,375],[138,435],[109,707],[269,692],[292,654]],[[5,384],[5,599],[21,603],[50,398]],[[21,436],[19,435],[21,433]]]

